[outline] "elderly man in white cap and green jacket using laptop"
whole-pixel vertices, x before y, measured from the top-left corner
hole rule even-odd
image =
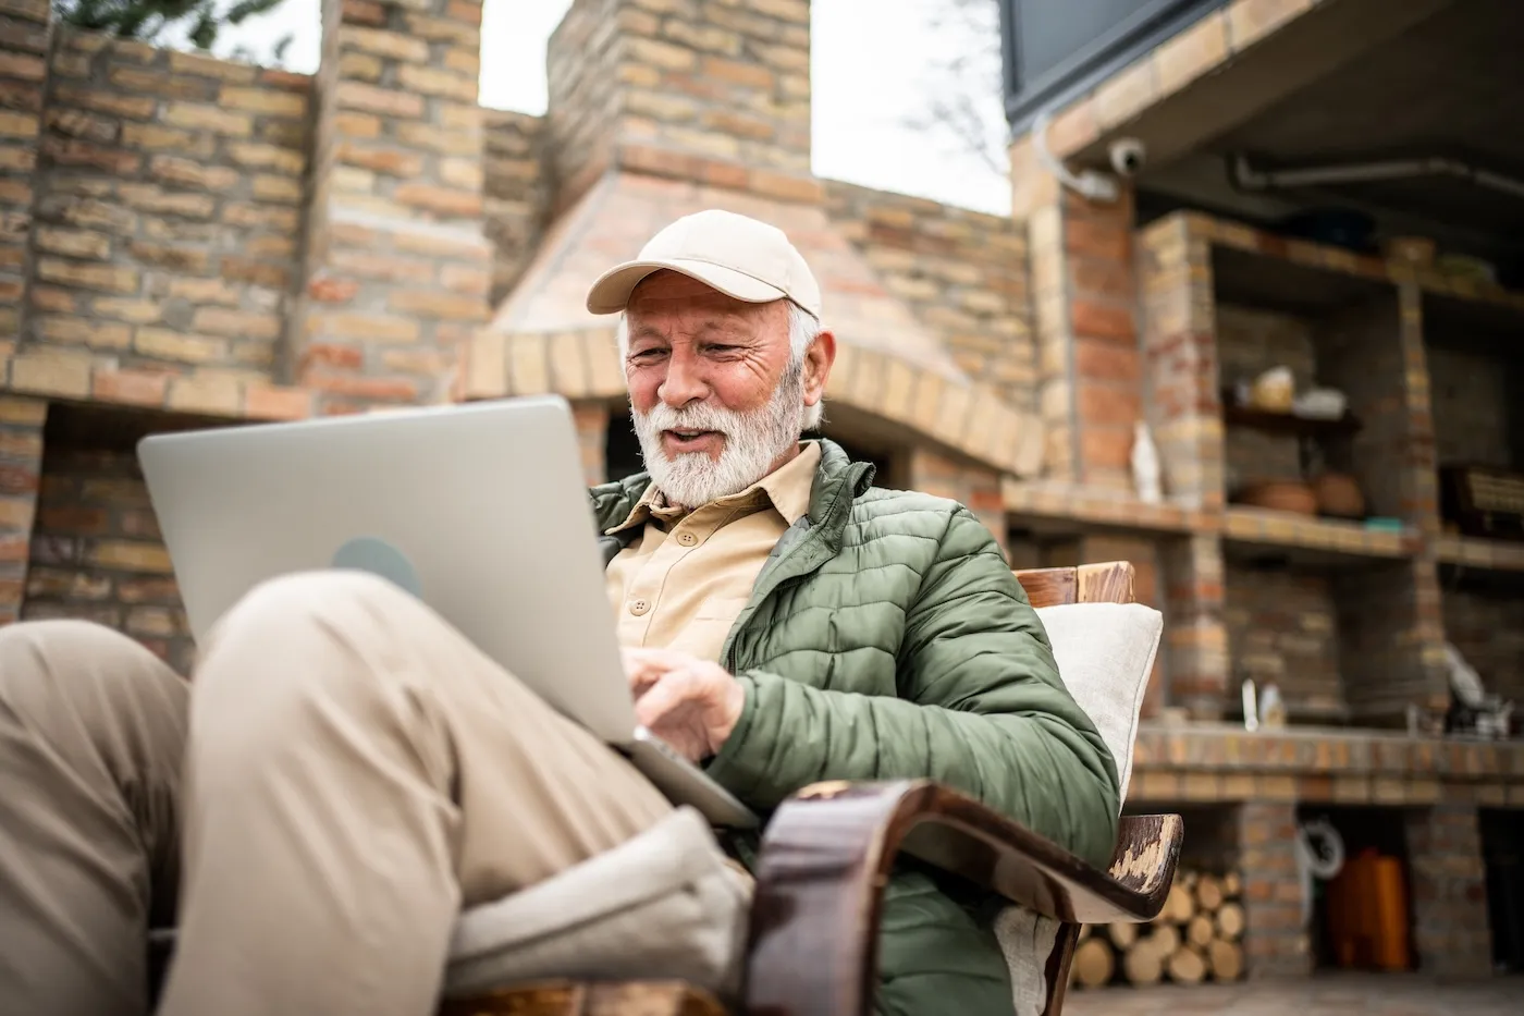
[[[783,233],[687,217],[588,307],[622,313],[648,467],[591,491],[640,719],[764,815],[817,780],[930,776],[1105,862],[1116,766],[991,534],[802,441],[835,339]],[[145,928],[177,915],[163,1013],[422,1016],[462,908],[672,813],[383,580],[267,583],[209,642],[186,685],[105,629],[0,630],[14,1011],[143,1011]],[[988,903],[907,865],[879,1008],[1009,1011]]]

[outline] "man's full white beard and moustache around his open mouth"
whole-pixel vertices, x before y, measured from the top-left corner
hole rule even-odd
[[[674,505],[698,508],[739,494],[771,471],[803,433],[803,365],[785,371],[767,406],[750,413],[700,403],[672,409],[658,401],[649,413],[631,407],[640,456],[657,490]],[[663,430],[713,430],[725,436],[719,461],[707,452],[684,452],[669,459],[661,449]]]

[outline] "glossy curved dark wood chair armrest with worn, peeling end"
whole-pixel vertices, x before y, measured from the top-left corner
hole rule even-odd
[[[928,781],[806,787],[762,839],[745,1008],[870,1011],[884,885],[901,850],[1045,917],[1146,921],[1164,905],[1183,830],[1178,815],[1123,818],[1106,873]]]

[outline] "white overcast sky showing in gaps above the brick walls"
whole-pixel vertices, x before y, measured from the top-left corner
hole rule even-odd
[[[986,212],[1010,211],[1009,183],[949,134],[904,124],[939,81],[937,61],[959,47],[992,46],[937,29],[948,0],[814,0],[812,85],[817,175],[899,191]],[[482,24],[482,104],[544,113],[546,40],[570,0],[486,0]],[[869,15],[869,9],[872,14]],[[285,0],[271,14],[224,31],[216,52],[242,44],[258,56],[293,35],[285,66],[317,69],[319,0]],[[872,40],[872,41],[869,41]],[[1004,128],[998,81],[978,110],[992,133]]]

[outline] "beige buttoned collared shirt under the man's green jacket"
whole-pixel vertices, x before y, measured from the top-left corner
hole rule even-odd
[[[605,572],[619,644],[718,661],[767,555],[809,511],[818,468],[820,445],[806,444],[739,494],[689,513],[669,506],[655,485],[646,488],[629,516],[608,529],[643,526]]]

